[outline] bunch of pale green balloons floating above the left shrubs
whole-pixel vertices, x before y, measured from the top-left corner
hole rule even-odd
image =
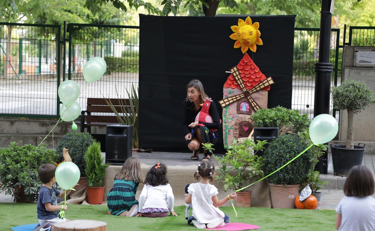
[[[107,70],[107,63],[101,57],[94,57],[90,59],[83,66],[83,77],[86,82],[91,83],[99,80]],[[58,87],[58,97],[63,105],[60,107],[60,117],[62,121],[73,121],[72,129],[78,129],[74,120],[81,114],[81,106],[77,103],[77,98],[80,95],[80,87],[73,80],[65,80]]]

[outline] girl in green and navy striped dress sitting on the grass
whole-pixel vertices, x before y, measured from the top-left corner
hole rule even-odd
[[[138,201],[135,194],[141,180],[141,162],[134,157],[126,159],[121,171],[114,177],[113,188],[107,195],[110,213],[116,216],[135,216]]]

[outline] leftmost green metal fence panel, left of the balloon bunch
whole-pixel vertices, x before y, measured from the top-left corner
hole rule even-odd
[[[0,22],[0,116],[56,117],[60,31]]]

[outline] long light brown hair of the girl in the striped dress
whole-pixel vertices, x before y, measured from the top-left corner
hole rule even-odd
[[[143,183],[141,179],[141,162],[134,157],[127,158],[120,172],[115,175],[114,180],[134,180],[135,182]]]

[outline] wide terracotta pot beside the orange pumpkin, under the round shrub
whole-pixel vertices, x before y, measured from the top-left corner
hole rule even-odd
[[[274,185],[268,183],[271,191],[272,207],[275,209],[296,209],[294,200],[300,185]]]

